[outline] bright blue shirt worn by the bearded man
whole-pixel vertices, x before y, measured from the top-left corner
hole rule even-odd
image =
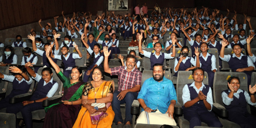
[[[137,99],[143,99],[149,108],[158,109],[165,114],[170,101],[176,100],[177,102],[177,95],[171,80],[163,77],[163,81],[157,82],[151,77],[143,83]]]

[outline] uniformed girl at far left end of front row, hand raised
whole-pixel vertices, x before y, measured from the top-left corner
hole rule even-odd
[[[9,99],[17,95],[27,93],[32,83],[32,78],[28,77],[26,74],[26,68],[24,66],[12,66],[9,70],[15,68],[18,68],[18,71],[15,72],[15,76],[0,73],[0,78],[2,80],[12,82],[13,85],[11,93],[0,101],[0,110],[14,105],[9,103]]]

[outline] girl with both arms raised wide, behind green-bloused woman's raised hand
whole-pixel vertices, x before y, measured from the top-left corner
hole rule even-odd
[[[46,57],[46,49],[49,45],[51,45],[52,48],[52,54],[55,54],[55,55],[58,55],[59,53],[59,44],[58,44],[58,41],[57,41],[57,38],[61,36],[61,34],[55,34],[54,36],[54,39],[55,39],[55,43],[45,43],[44,44],[44,51],[43,50],[40,50],[36,47],[36,44],[35,44],[35,37],[32,36],[31,34],[28,35],[28,39],[32,40],[32,48],[33,48],[33,51],[40,55],[41,57],[43,57],[43,66],[47,66],[47,67],[51,67],[51,64],[49,63],[49,60],[47,59]],[[55,46],[55,48],[54,48]],[[52,59],[55,63],[57,63],[57,59]]]

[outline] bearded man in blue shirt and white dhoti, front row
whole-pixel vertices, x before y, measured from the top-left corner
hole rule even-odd
[[[137,123],[176,125],[173,118],[176,91],[172,81],[166,79],[164,74],[164,66],[157,63],[153,66],[153,77],[143,83],[137,98],[143,112]]]

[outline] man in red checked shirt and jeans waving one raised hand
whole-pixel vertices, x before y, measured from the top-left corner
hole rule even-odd
[[[134,100],[137,100],[138,91],[140,91],[141,76],[142,73],[135,68],[136,57],[133,55],[127,55],[126,66],[119,66],[116,68],[109,68],[108,56],[111,51],[104,47],[104,71],[111,75],[118,75],[118,90],[113,93],[112,108],[115,112],[115,123],[117,128],[131,128],[132,115],[131,104]],[[120,104],[126,104],[125,106],[125,121],[122,119]],[[125,125],[125,127],[124,127]]]

